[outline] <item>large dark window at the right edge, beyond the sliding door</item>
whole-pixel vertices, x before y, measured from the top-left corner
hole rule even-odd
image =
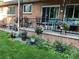
[[[66,18],[79,18],[79,5],[66,6]]]

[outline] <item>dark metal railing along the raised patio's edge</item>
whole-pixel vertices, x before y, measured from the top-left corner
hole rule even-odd
[[[70,29],[66,31],[66,33],[79,34],[79,20],[77,19],[68,19],[65,18],[63,21],[61,19],[47,19],[47,21],[43,21],[44,18],[20,18],[20,27],[25,28],[36,28],[37,26],[41,26],[44,30],[54,31],[61,33],[62,29],[60,29],[59,25],[63,22],[67,23],[70,26]],[[15,18],[15,24],[10,24],[10,29],[17,30],[17,22],[18,19]],[[73,28],[75,28],[73,30]]]

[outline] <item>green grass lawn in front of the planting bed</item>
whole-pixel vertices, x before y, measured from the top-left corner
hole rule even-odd
[[[0,31],[0,59],[79,59],[79,51],[73,54],[58,53],[55,50],[38,49],[17,41],[9,40],[9,33]]]

